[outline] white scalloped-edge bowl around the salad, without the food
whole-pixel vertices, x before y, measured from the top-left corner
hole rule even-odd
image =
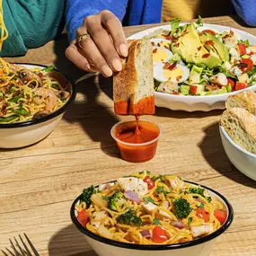
[[[185,24],[185,23],[181,23]],[[230,27],[225,27],[221,25],[213,25],[205,23],[203,27],[200,27],[199,30],[202,31],[204,29],[213,29],[216,31],[229,31]],[[150,35],[157,30],[165,30],[170,31],[171,25],[163,25],[159,27],[154,27],[148,29],[146,31],[140,31],[130,37],[128,40],[136,40],[141,39],[144,36]],[[249,42],[253,45],[256,45],[256,37],[240,30],[233,29],[232,30],[242,39],[249,40]],[[256,91],[256,85],[250,86],[243,90],[252,90]],[[241,90],[242,91],[242,90]],[[228,96],[233,95],[235,93],[239,93],[241,91],[225,93],[219,95],[208,95],[208,96],[185,96],[185,95],[172,95],[167,93],[158,93],[155,92],[155,105],[157,107],[164,107],[170,110],[185,110],[185,111],[209,111],[209,110],[224,110],[225,109],[225,101]]]

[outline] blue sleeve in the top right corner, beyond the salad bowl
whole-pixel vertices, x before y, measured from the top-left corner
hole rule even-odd
[[[256,3],[255,0],[232,0],[238,15],[248,25],[256,26]]]

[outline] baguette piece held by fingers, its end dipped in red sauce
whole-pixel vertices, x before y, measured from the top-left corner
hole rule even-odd
[[[152,45],[149,39],[128,40],[128,57],[113,77],[114,110],[118,115],[154,114]]]

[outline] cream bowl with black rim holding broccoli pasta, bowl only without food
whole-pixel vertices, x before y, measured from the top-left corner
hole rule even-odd
[[[194,187],[199,186],[197,183],[190,181],[185,182],[190,183]],[[122,243],[93,234],[91,231],[81,225],[75,216],[75,204],[78,203],[82,195],[75,199],[74,203],[72,204],[70,214],[77,229],[84,234],[86,241],[93,247],[93,250],[99,256],[155,256],[155,251],[160,252],[161,254],[159,255],[161,256],[206,256],[209,255],[209,252],[219,236],[223,234],[233,222],[234,211],[233,207],[224,196],[205,186],[200,187],[208,190],[209,195],[213,199],[217,199],[223,203],[227,212],[227,218],[225,223],[214,233],[187,243],[142,245],[135,243]]]

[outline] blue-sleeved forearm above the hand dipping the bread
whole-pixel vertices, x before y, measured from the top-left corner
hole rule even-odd
[[[84,18],[89,15],[109,10],[122,21],[128,0],[67,0],[66,1],[66,31],[68,40],[75,39],[75,31],[83,24]]]

